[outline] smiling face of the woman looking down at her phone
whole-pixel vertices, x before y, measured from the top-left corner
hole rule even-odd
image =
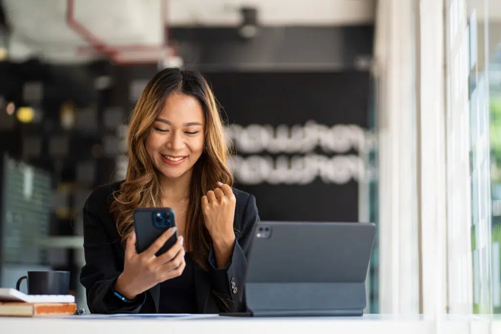
[[[166,178],[191,171],[204,144],[204,117],[200,102],[192,96],[172,93],[146,137],[146,151]]]

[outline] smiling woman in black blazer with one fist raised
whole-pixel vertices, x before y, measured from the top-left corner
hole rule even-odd
[[[205,79],[166,69],[146,85],[129,123],[124,181],[101,186],[84,209],[80,281],[93,313],[245,310],[243,280],[254,225],[253,195],[232,189],[224,127]],[[133,212],[175,211],[171,228],[137,253]]]

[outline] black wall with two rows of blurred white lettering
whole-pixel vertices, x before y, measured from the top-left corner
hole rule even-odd
[[[256,196],[263,220],[358,221],[357,149],[368,124],[368,72],[205,75],[232,128],[246,129],[229,132],[234,176],[238,188]],[[257,131],[267,127],[275,138],[287,129],[292,139]],[[300,132],[293,135],[295,127]]]

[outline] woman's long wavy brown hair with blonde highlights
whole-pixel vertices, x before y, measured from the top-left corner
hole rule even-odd
[[[204,148],[193,166],[186,214],[185,244],[200,267],[208,269],[208,254],[212,240],[203,222],[201,198],[217,187],[217,182],[233,185],[233,176],[226,167],[229,145],[214,94],[205,78],[194,70],[165,69],[146,85],[129,121],[127,133],[127,176],[114,193],[111,212],[118,234],[125,241],[133,231],[134,210],[157,207],[162,203],[159,171],[154,167],[145,148],[145,139],[161,112],[169,94],[178,92],[196,98],[203,109]]]

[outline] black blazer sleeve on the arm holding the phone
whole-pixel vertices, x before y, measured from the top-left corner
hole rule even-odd
[[[80,282],[86,289],[87,305],[91,313],[138,313],[146,299],[146,293],[133,301],[124,302],[113,294],[113,285],[121,271],[98,210],[93,208],[92,195],[83,208],[85,265]]]

